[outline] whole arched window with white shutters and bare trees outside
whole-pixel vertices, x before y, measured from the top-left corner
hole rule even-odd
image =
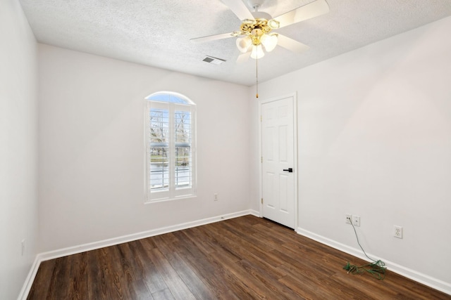
[[[145,98],[147,202],[195,195],[195,107],[173,92]]]

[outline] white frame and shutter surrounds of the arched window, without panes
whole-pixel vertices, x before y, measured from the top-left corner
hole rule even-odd
[[[177,98],[183,99],[187,104],[183,103],[170,103],[149,100],[152,96],[168,94]],[[145,203],[161,202],[168,200],[177,200],[188,197],[195,197],[197,192],[197,172],[196,172],[196,105],[189,98],[173,92],[158,92],[152,93],[147,96],[144,101],[144,193]],[[161,108],[168,110],[169,112],[169,126],[168,134],[168,173],[169,173],[169,186],[168,190],[151,190],[150,185],[150,148],[149,148],[149,131],[150,131],[150,116],[149,110],[152,108]],[[175,111],[187,111],[191,115],[191,187],[190,188],[176,188],[175,187]]]

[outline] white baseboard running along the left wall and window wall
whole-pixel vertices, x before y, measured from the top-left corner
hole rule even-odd
[[[63,249],[58,249],[50,252],[39,253],[36,256],[35,262],[32,264],[32,268],[30,269],[30,273],[27,275],[27,279],[23,284],[22,290],[18,296],[18,300],[27,299],[28,293],[30,293],[30,289],[32,287],[33,281],[35,280],[37,270],[39,269],[39,265],[42,261],[48,261],[49,259],[57,259],[59,257],[68,256],[72,254],[78,254],[81,252],[100,249],[103,247],[113,246],[115,244],[122,244],[124,242],[131,242],[134,240],[144,239],[146,237],[153,237],[155,235],[162,235],[164,233],[172,233],[174,231],[183,230],[187,228],[193,228],[197,226],[206,225],[209,223],[215,223],[219,221],[224,221],[227,219],[237,218],[239,216],[246,216],[248,214],[252,214],[254,216],[259,216],[258,211],[254,211],[253,209],[248,209],[245,211],[237,211],[232,214],[224,214],[221,216],[214,216],[211,218],[201,219],[197,221],[181,223],[174,226],[167,226],[162,228],[156,228],[152,230],[142,231],[141,233],[132,233],[131,235],[123,235],[121,237],[113,237],[108,240],[101,240],[99,242],[90,242],[87,244],[80,244],[78,246],[67,247]]]

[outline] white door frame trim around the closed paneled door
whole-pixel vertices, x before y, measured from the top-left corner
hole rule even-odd
[[[299,227],[299,223],[298,223],[298,207],[299,207],[299,197],[298,197],[298,193],[297,193],[297,187],[298,187],[298,178],[299,176],[297,174],[299,174],[299,167],[297,165],[297,93],[289,93],[288,95],[283,95],[283,96],[276,96],[273,98],[268,98],[268,99],[264,99],[264,100],[259,100],[259,157],[260,157],[260,163],[259,163],[259,212],[260,212],[260,217],[263,218],[263,203],[261,201],[261,199],[263,199],[263,176],[261,174],[261,172],[263,171],[263,161],[262,161],[262,141],[261,141],[261,106],[264,105],[265,103],[269,103],[269,102],[274,102],[277,100],[282,100],[285,98],[289,98],[292,97],[293,100],[293,167],[295,168],[295,171],[293,172],[293,176],[294,181],[295,181],[295,228],[294,230],[297,232],[297,228]]]

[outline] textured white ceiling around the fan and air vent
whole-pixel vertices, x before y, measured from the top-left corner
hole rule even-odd
[[[247,4],[247,1],[244,0]],[[266,0],[273,17],[312,0]],[[326,15],[281,28],[310,46],[302,54],[280,46],[259,60],[259,81],[326,60],[451,15],[451,0],[327,0]],[[221,0],[20,0],[37,40],[99,56],[251,86],[255,60],[236,63],[235,38],[190,39],[239,30]],[[227,60],[222,65],[206,56]]]

